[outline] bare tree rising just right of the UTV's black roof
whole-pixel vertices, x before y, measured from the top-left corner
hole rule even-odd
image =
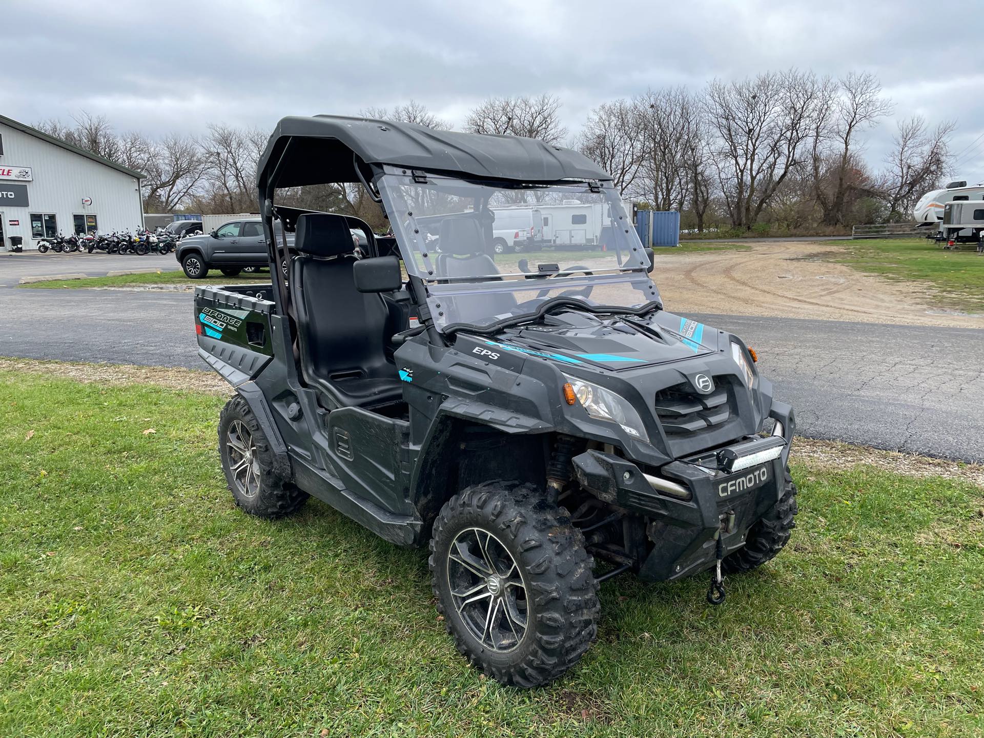
[[[622,196],[633,189],[642,164],[644,142],[637,122],[628,100],[605,102],[591,110],[578,138],[578,150],[612,175]]]

